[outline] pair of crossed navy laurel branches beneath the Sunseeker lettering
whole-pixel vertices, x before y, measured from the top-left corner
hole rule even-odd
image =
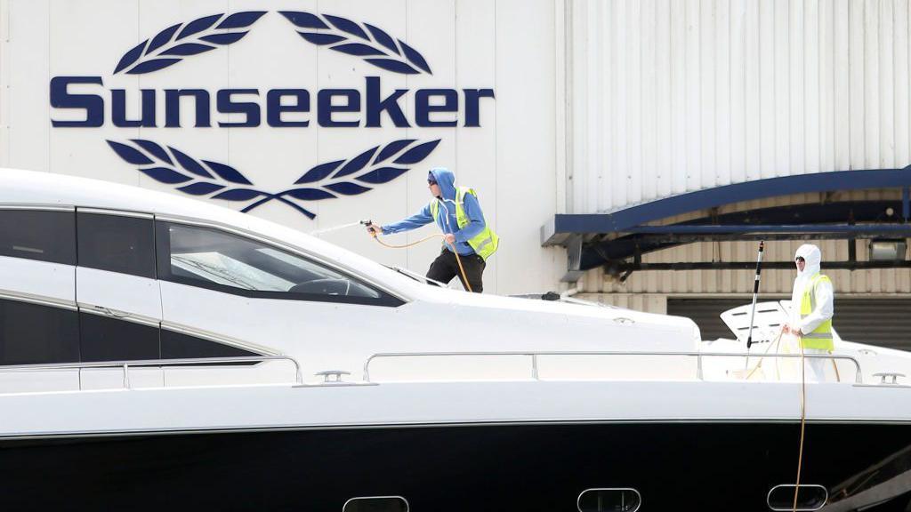
[[[294,185],[306,185],[268,192],[255,189],[240,171],[210,160],[190,158],[186,153],[141,138],[129,139],[131,144],[107,140],[118,157],[138,166],[151,179],[175,186],[179,191],[213,200],[249,201],[259,199],[242,212],[253,210],[271,200],[300,211],[310,219],[316,214],[294,202],[329,200],[353,196],[371,190],[368,185],[392,181],[430,155],[440,139],[415,144],[415,138],[394,140],[384,146],[367,149],[353,159],[322,163],[307,170]],[[175,163],[176,162],[176,163]],[[200,163],[201,162],[201,163]]]

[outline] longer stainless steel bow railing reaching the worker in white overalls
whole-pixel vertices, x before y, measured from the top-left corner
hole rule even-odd
[[[677,357],[695,357],[697,361],[696,366],[696,378],[703,380],[702,378],[702,358],[703,357],[752,357],[752,358],[783,358],[783,359],[793,359],[802,357],[799,353],[751,353],[747,355],[746,353],[720,353],[720,352],[649,352],[649,351],[631,351],[631,352],[621,352],[621,351],[583,351],[583,352],[551,352],[551,351],[517,351],[517,352],[396,352],[396,353],[374,353],[367,358],[367,361],[363,364],[363,381],[370,381],[370,364],[374,359],[380,358],[393,358],[393,357],[436,357],[436,356],[527,356],[531,364],[531,378],[533,380],[540,380],[537,371],[537,358],[541,356],[566,356],[566,355],[609,355],[609,356],[621,356],[621,355],[638,355],[638,356],[677,356]],[[854,356],[839,354],[839,353],[807,353],[804,354],[805,359],[831,359],[831,360],[844,360],[850,361],[855,365],[855,383],[863,384],[864,375],[861,371],[860,362]]]

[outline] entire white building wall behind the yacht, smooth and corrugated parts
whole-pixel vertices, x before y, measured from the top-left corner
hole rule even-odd
[[[381,26],[418,49],[434,73],[398,76],[302,46],[278,15],[282,9]],[[237,44],[155,74],[113,73],[124,52],[166,26],[244,10],[270,13]],[[277,201],[251,214],[309,232],[366,218],[397,220],[425,204],[424,170],[444,165],[478,189],[486,218],[502,237],[486,290],[555,290],[565,286],[558,282],[565,251],[541,248],[538,234],[555,212],[617,210],[751,179],[906,166],[908,19],[907,0],[0,0],[0,166],[173,192],[105,143],[147,138],[281,189],[320,162],[395,138],[440,138],[428,159],[382,187],[313,201],[314,220]],[[388,119],[383,128],[277,129],[264,122],[257,128],[53,128],[50,119],[67,112],[50,107],[48,83],[65,75],[99,76],[105,90],[127,89],[130,116],[138,115],[139,88],[203,87],[214,94],[257,87],[265,94],[303,87],[315,95],[327,87],[363,92],[367,76],[382,77],[384,95],[408,89],[409,116],[418,88],[491,87],[496,99],[482,104],[479,128],[395,128]],[[191,112],[182,115],[191,121]],[[220,204],[239,210],[249,203]],[[390,241],[417,241],[434,231]],[[383,249],[358,228],[320,236],[414,271],[425,271],[438,251],[435,242]],[[789,260],[793,248],[770,244],[769,258]],[[823,249],[826,257],[846,256],[844,242]],[[646,261],[749,261],[754,251],[753,243],[701,243]],[[858,256],[865,252],[858,247]],[[778,274],[770,272],[763,290],[789,290],[788,272]],[[841,292],[911,292],[907,271],[836,277]],[[580,285],[604,294],[596,297],[601,301],[663,311],[668,294],[749,292],[752,271],[643,271],[621,283],[596,270]]]

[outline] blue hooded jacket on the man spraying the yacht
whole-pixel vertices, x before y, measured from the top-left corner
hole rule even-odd
[[[443,230],[444,233],[452,233],[455,235],[455,250],[458,251],[459,255],[466,256],[468,254],[474,254],[475,250],[468,245],[467,241],[474,238],[478,233],[484,230],[486,223],[484,221],[484,212],[481,211],[481,205],[477,202],[477,198],[472,194],[466,194],[463,199],[463,208],[465,209],[465,214],[468,217],[469,223],[465,228],[459,230],[458,222],[455,220],[455,174],[451,170],[445,168],[434,168],[430,169],[430,174],[428,179],[433,177],[436,183],[440,186],[440,192],[443,194],[443,201],[440,203],[440,212],[445,211],[446,215],[440,215],[440,219],[436,221],[436,225],[439,226],[440,230]],[[412,215],[411,217],[405,220],[399,220],[393,224],[386,224],[383,226],[383,234],[388,235],[392,233],[398,233],[402,231],[415,230],[421,226],[425,226],[434,220],[433,214],[430,212],[430,203]],[[448,251],[452,251],[452,247],[449,244],[445,243],[444,247]]]

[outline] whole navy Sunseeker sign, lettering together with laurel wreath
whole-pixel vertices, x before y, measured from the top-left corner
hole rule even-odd
[[[203,16],[168,26],[129,49],[114,67],[114,76],[156,77],[169,69],[192,66],[194,56],[240,44],[265,15],[247,11]],[[389,182],[430,155],[440,138],[395,138],[374,148],[360,148],[349,159],[316,162],[281,190],[258,189],[251,179],[232,167],[175,148],[147,136],[149,128],[275,129],[307,128],[476,128],[480,110],[492,101],[491,88],[396,88],[383,94],[382,74],[432,75],[421,53],[378,26],[327,14],[281,11],[302,46],[324,47],[338,58],[362,59],[377,76],[358,77],[350,88],[220,88],[210,90],[180,83],[166,88],[107,88],[101,76],[60,76],[50,80],[54,128],[143,128],[142,138],[107,139],[107,145],[128,164],[152,179],[182,193],[249,203],[250,211],[279,200],[311,219],[306,202],[362,194]],[[302,47],[302,51],[308,51]],[[312,51],[312,50],[310,50]],[[128,103],[137,102],[138,114],[128,115]],[[183,121],[181,108],[193,104],[193,121]],[[162,107],[163,108],[160,108]],[[164,116],[159,116],[159,113]],[[62,115],[64,112],[66,116]],[[74,118],[74,112],[77,116]],[[151,132],[156,133],[156,132]],[[167,132],[162,134],[167,135]]]

